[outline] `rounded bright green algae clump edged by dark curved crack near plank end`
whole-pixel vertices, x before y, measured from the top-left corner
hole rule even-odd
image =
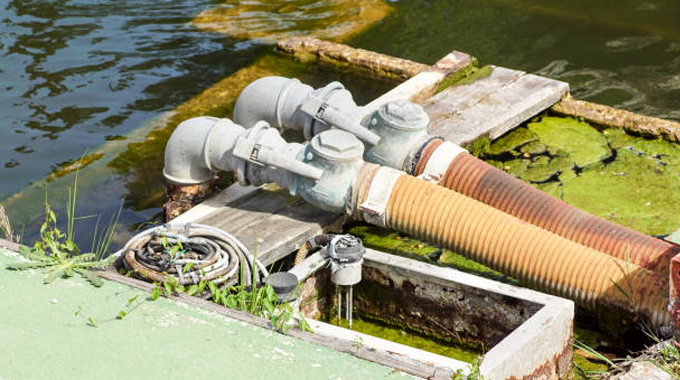
[[[602,161],[612,155],[607,139],[597,129],[575,119],[543,117],[527,128],[538,139],[569,154],[579,167]]]

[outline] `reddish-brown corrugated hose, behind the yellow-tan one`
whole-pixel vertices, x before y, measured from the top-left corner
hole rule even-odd
[[[434,140],[423,148],[413,175],[423,173],[441,144],[442,140]],[[469,153],[457,154],[437,180],[441,186],[535,226],[664,276],[668,274],[670,260],[680,253],[680,246],[589,214]]]

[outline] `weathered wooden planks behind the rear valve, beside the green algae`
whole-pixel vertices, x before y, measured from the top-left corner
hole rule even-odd
[[[569,85],[522,71],[493,67],[473,83],[452,86],[425,103],[430,133],[467,144],[495,139],[558,102]]]

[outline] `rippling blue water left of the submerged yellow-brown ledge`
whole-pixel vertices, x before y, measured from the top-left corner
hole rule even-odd
[[[191,27],[209,3],[0,0],[0,199],[261,54]]]

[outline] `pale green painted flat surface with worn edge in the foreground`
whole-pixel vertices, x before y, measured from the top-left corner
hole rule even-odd
[[[384,379],[403,373],[167,299],[115,317],[141,291],[77,278],[43,285],[0,251],[0,379]],[[99,327],[75,317],[99,321]]]

